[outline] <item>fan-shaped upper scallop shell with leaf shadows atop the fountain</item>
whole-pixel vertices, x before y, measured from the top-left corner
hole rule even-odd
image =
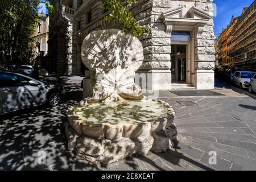
[[[82,63],[90,70],[133,69],[142,65],[143,47],[141,42],[124,34],[121,30],[98,30],[90,33],[82,43]]]

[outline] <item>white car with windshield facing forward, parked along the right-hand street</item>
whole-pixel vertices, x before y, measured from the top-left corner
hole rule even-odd
[[[233,83],[240,86],[241,89],[249,88],[250,79],[254,76],[255,72],[237,71],[233,76]]]

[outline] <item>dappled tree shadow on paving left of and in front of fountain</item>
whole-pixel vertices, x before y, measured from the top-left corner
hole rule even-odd
[[[0,169],[3,170],[108,170],[121,163],[124,169],[139,170],[138,160],[148,169],[167,170],[159,159],[179,166],[181,159],[203,169],[209,169],[179,151],[171,154],[154,154],[129,157],[113,164],[90,163],[77,159],[68,151],[63,124],[67,122],[67,109],[82,100],[80,81],[72,82],[69,77],[56,80],[65,83],[66,100],[56,107],[33,107],[0,118]],[[46,156],[46,160],[42,157]],[[156,156],[157,158],[152,158]]]

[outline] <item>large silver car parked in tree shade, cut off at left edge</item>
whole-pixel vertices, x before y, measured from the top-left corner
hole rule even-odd
[[[62,85],[45,83],[19,73],[0,72],[0,115],[43,104],[56,106],[64,94]]]

